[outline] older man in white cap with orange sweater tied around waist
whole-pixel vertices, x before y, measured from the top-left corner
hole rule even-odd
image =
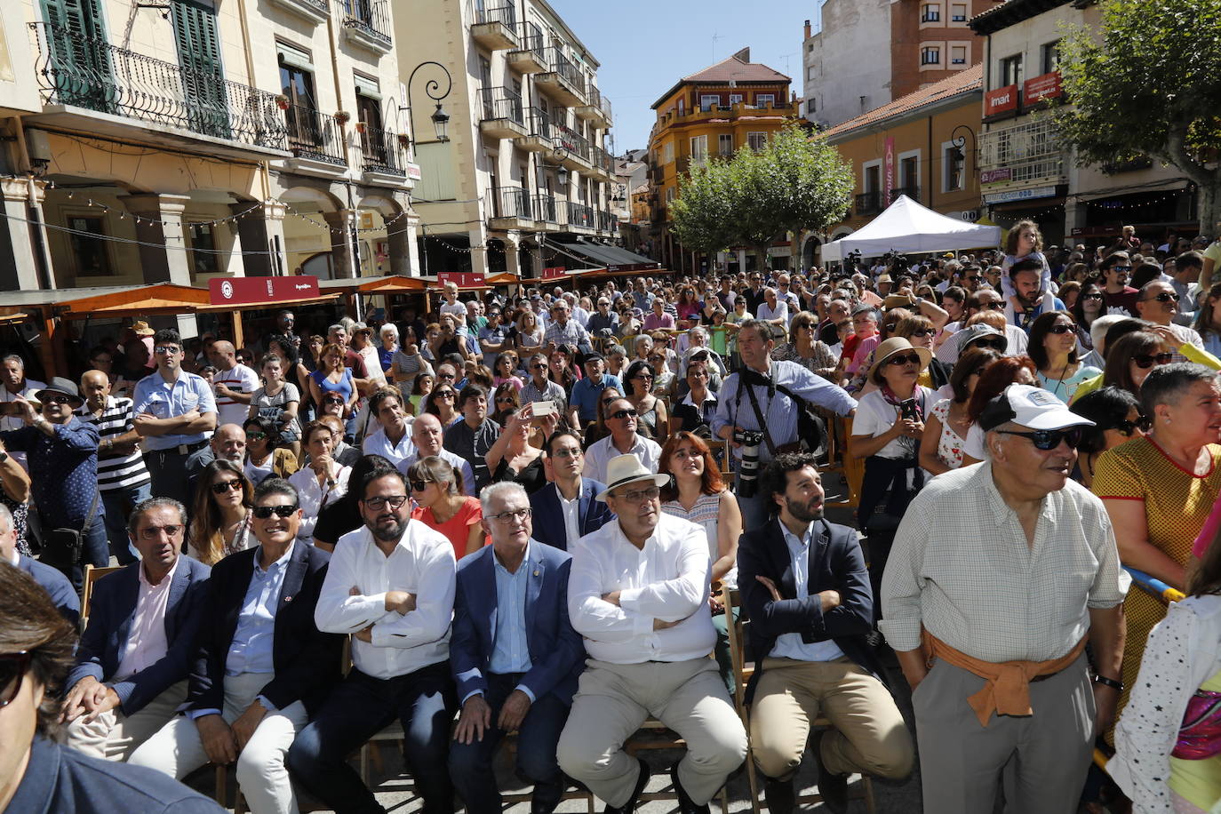
[[[988,460],[929,482],[899,526],[879,627],[919,687],[924,810],[989,812],[1005,775],[1016,810],[1073,812],[1122,690],[1131,583],[1103,502],[1070,480],[1093,422],[1026,384],[979,422]]]

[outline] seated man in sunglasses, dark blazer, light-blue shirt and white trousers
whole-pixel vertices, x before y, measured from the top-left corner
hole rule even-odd
[[[129,762],[177,779],[236,763],[252,814],[292,812],[284,755],[339,679],[343,637],[314,624],[331,555],[297,542],[297,489],[267,478],[250,514],[259,544],[222,559],[208,581],[186,714]]]

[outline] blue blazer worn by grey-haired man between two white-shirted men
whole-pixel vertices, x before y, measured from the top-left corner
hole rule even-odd
[[[568,572],[573,558],[537,539],[521,567],[530,570],[526,582],[526,644],[530,671],[521,683],[535,698],[554,693],[573,703],[576,680],[585,669],[581,635],[568,621]],[[458,561],[454,593],[454,621],[449,636],[449,669],[458,685],[458,698],[487,692],[487,666],[496,638],[496,561],[493,548]]]

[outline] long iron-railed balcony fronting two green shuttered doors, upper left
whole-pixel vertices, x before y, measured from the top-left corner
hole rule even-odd
[[[210,153],[223,157],[288,157],[288,132],[275,94],[60,26],[31,28],[38,39],[35,72],[44,104],[31,123],[194,149],[203,139],[211,144]]]

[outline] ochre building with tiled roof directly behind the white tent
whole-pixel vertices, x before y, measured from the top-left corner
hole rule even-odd
[[[852,207],[828,229],[828,239],[851,234],[900,195],[949,217],[980,218],[976,138],[983,98],[983,66],[941,79],[824,133],[852,165]],[[802,247],[806,265],[818,265],[818,239]]]

